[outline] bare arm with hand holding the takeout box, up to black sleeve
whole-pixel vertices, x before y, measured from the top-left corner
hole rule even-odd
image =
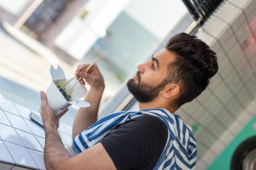
[[[67,110],[65,111],[67,112]],[[44,163],[48,170],[64,169],[116,169],[112,159],[104,149],[101,143],[98,143],[86,151],[70,157],[57,131],[59,127],[59,118],[65,112],[56,116],[46,101],[46,95],[41,92],[40,114],[44,122],[45,146]]]

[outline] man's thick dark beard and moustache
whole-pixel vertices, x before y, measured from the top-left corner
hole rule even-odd
[[[139,75],[138,78],[140,78]],[[147,83],[142,83],[140,79],[137,84],[134,79],[129,79],[127,87],[139,103],[146,103],[155,99],[158,96],[159,91],[162,90],[167,83],[168,82],[164,80],[154,87]]]

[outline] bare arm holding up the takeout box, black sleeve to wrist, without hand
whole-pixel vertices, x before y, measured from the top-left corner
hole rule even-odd
[[[86,151],[70,157],[64,147],[57,128],[53,126],[45,127],[46,142],[44,148],[44,162],[48,170],[65,169],[116,169],[112,159],[101,143],[98,143]]]

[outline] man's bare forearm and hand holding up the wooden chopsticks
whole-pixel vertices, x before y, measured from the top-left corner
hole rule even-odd
[[[84,70],[86,67],[88,67],[88,65],[79,65],[75,71],[75,76],[77,79],[82,77],[86,80],[86,83],[91,86],[85,98],[85,100],[88,101],[91,106],[88,108],[79,108],[73,122],[73,139],[75,136],[77,136],[77,134],[81,133],[83,130],[97,121],[100,99],[105,87],[104,79],[98,67],[93,65],[87,74],[82,72],[82,70]],[[83,79],[80,81],[82,85],[85,84]]]

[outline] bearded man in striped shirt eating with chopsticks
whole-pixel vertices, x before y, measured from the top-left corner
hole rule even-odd
[[[75,72],[80,83],[91,88],[73,122],[75,157],[67,153],[57,132],[59,118],[41,91],[40,114],[46,142],[47,169],[195,169],[197,144],[192,129],[174,114],[192,101],[218,71],[216,53],[196,36],[181,33],[170,38],[166,47],[151,60],[137,66],[127,83],[139,103],[139,111],[110,114],[97,122],[104,79],[96,65]],[[107,110],[104,112],[108,112]]]

